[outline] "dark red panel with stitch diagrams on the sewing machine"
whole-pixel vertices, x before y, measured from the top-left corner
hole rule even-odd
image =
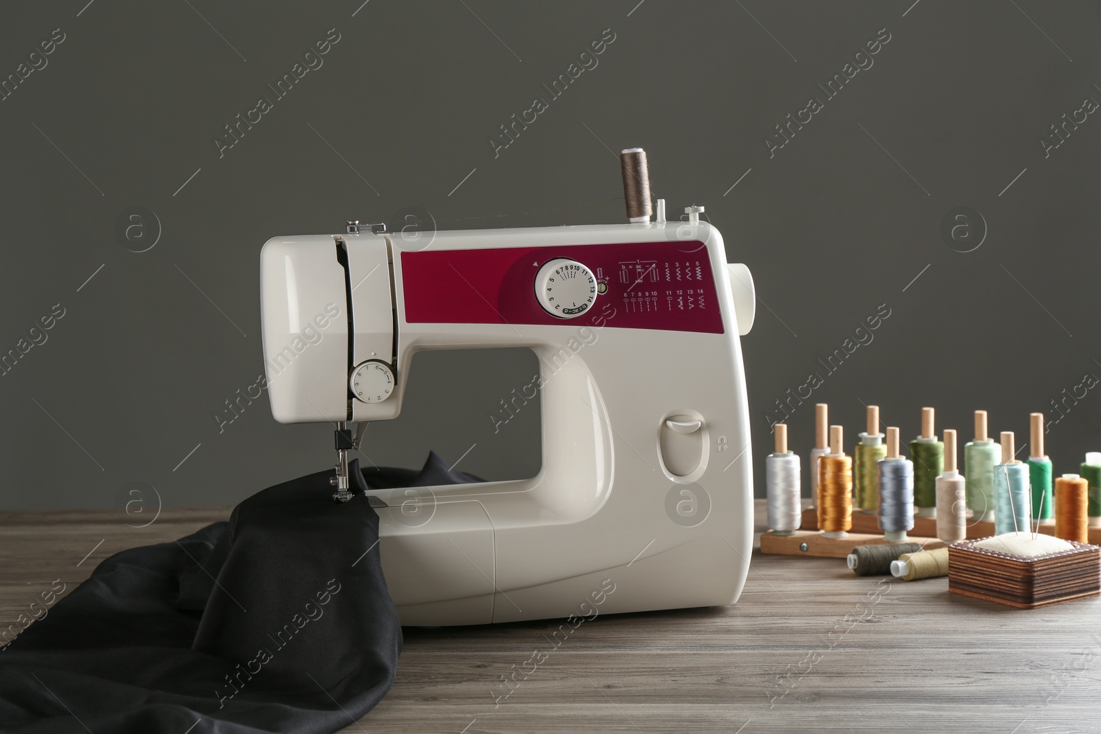
[[[576,319],[543,309],[539,267],[575,260],[603,291]],[[702,242],[628,242],[538,248],[426,250],[401,253],[410,324],[589,324],[602,317],[624,329],[722,333],[715,276]]]

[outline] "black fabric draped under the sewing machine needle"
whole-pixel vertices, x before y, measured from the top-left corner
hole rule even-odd
[[[481,481],[351,467],[361,491]],[[0,731],[328,733],[390,689],[402,632],[363,496],[318,472],[177,541],[108,558],[0,651]]]

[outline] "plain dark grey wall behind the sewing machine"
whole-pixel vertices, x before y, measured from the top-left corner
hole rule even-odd
[[[0,351],[65,308],[0,376],[0,506],[108,506],[132,482],[165,505],[225,505],[328,467],[329,427],[280,426],[263,397],[221,432],[214,417],[262,371],[260,245],[410,206],[440,229],[619,222],[609,149],[633,145],[671,212],[706,205],[753,272],[759,493],[767,415],[814,371],[825,382],[789,420],[804,453],[816,401],[848,443],[879,403],[904,436],[923,405],[962,438],[986,408],[1020,446],[1029,412],[1059,418],[1054,402],[1101,375],[1101,119],[1047,158],[1039,144],[1101,100],[1095,3],[86,2],[0,23],[0,75],[66,34],[0,101]],[[324,66],[219,158],[222,127],[333,28]],[[599,65],[494,158],[498,125],[609,28]],[[884,28],[874,65],[770,157],[763,138]],[[146,252],[116,237],[131,206],[163,230]],[[972,252],[940,235],[958,206],[986,224]],[[818,360],[881,304],[874,340],[828,374]],[[372,461],[414,467],[430,447],[491,479],[537,470],[537,409],[495,436],[488,417],[530,381],[530,353],[414,364],[403,416],[368,432]],[[1101,448],[1095,392],[1050,426],[1057,472]]]

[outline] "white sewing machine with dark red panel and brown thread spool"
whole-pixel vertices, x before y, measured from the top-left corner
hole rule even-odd
[[[410,247],[350,222],[263,247],[272,413],[337,424],[338,501],[355,487],[348,452],[362,431],[350,424],[399,415],[416,352],[527,347],[539,359],[536,476],[353,500],[377,506],[403,624],[710,606],[741,593],[753,492],[739,335],[753,324],[752,277],[728,265],[702,207],[665,221],[658,200],[652,221],[645,154],[622,161],[624,224],[439,231]]]

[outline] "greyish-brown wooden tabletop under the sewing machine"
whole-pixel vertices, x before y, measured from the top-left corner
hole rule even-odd
[[[70,590],[110,554],[227,516],[0,513],[0,620],[54,579]],[[1101,600],[1026,612],[947,585],[754,551],[738,604],[586,622],[499,701],[557,622],[410,628],[390,694],[345,731],[1101,731]]]

